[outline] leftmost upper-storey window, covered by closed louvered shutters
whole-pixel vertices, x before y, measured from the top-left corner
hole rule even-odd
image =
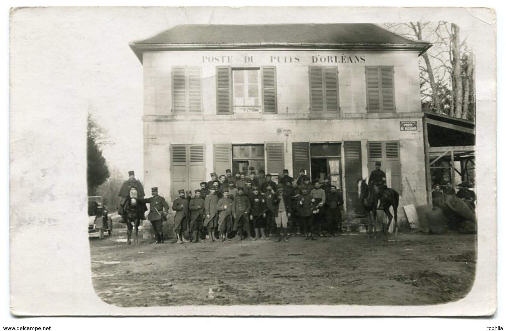
[[[202,112],[202,68],[172,68],[172,109],[175,114]]]

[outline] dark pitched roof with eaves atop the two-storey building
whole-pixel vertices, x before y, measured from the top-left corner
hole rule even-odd
[[[370,23],[178,25],[130,44],[142,53],[160,50],[298,48],[339,50],[416,50],[431,43],[415,41]]]

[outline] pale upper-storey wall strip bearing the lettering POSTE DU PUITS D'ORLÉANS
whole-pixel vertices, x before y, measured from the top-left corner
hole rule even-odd
[[[396,112],[421,109],[416,52],[182,51],[144,54],[144,115],[173,115],[173,66],[202,67],[202,115],[216,114],[216,66],[275,66],[278,114],[309,114],[308,67],[318,65],[338,66],[342,114],[367,112],[365,66],[379,65],[394,66]]]

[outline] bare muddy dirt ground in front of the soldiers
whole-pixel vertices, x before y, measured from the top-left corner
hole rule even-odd
[[[126,228],[90,238],[93,285],[120,307],[181,305],[429,305],[471,290],[476,235],[344,233],[288,243],[126,245]]]

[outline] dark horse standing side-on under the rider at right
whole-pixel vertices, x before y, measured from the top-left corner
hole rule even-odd
[[[392,190],[392,188],[380,188],[379,185],[367,185],[367,180],[358,181],[358,195],[360,203],[364,208],[369,219],[369,224],[372,225],[374,236],[376,235],[377,215],[376,210],[383,210],[388,217],[388,225],[382,223],[383,233],[388,233],[392,219],[394,219],[394,233],[397,234],[397,208],[399,208],[399,194]],[[394,209],[394,215],[390,212],[390,207]],[[367,229],[369,236],[371,236],[370,226]]]

